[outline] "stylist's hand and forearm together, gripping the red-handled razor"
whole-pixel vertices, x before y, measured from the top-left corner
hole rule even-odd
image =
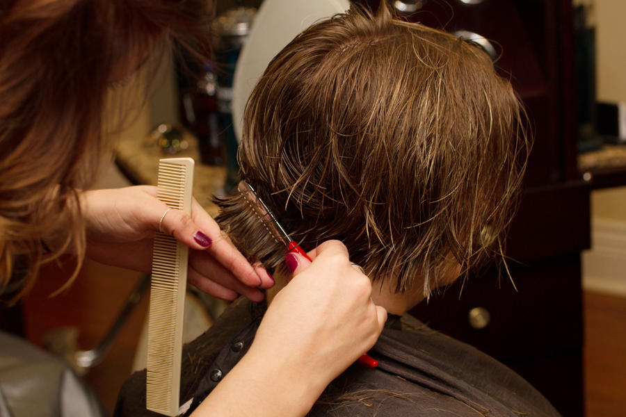
[[[313,263],[287,255],[294,278],[274,297],[250,350],[193,417],[304,416],[376,343],[387,311],[371,301],[371,281],[346,247],[329,240],[309,256]]]

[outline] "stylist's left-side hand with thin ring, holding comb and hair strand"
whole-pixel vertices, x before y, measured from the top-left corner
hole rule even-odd
[[[161,222],[164,232],[191,248],[188,281],[205,293],[224,300],[233,300],[239,293],[260,301],[264,295],[257,286],[273,285],[263,268],[252,267],[223,237],[218,224],[195,199],[191,216],[178,210],[166,213],[168,206],[157,199],[157,188],[152,186],[86,191],[81,204],[90,259],[150,272],[152,238]]]

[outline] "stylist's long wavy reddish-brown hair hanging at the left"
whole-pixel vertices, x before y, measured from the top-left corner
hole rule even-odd
[[[40,265],[85,236],[77,189],[108,147],[111,83],[172,42],[209,51],[207,0],[8,0],[0,6],[0,288],[33,284]],[[42,249],[58,232],[65,243]],[[74,274],[75,275],[75,274]]]

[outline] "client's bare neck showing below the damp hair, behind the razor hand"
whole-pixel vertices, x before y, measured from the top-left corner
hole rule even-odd
[[[266,291],[268,304],[271,304],[278,291],[287,285],[288,282],[287,277],[278,272],[274,274],[273,278],[275,279],[274,286]],[[424,300],[422,285],[419,282],[415,284],[412,291],[396,294],[390,288],[390,281],[390,279],[384,279],[382,283],[376,282],[371,289],[371,299],[374,301],[374,304],[385,307],[387,313],[401,316]]]

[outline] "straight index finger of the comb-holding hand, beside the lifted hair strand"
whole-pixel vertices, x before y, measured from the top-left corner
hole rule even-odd
[[[214,218],[204,211],[204,208],[200,206],[195,198],[191,203],[191,216],[193,221],[198,224],[198,227],[205,231],[212,240],[211,245],[205,251],[211,254],[224,268],[229,270],[236,279],[239,279],[247,286],[269,288],[273,285],[273,280],[268,273],[265,270],[257,273],[255,268],[252,268],[252,265],[241,252],[226,238]]]

